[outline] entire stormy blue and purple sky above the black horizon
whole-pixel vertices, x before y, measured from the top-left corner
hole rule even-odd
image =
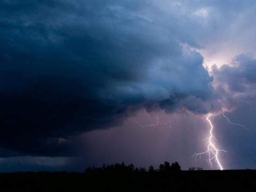
[[[256,169],[255,8],[1,1],[0,172],[164,161],[219,169],[193,157],[207,150],[208,114],[223,168]]]

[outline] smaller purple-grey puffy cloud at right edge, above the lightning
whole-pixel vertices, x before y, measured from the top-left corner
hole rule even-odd
[[[237,55],[230,65],[212,67],[215,92],[219,95],[223,109],[253,104],[256,92],[256,60],[252,53]]]

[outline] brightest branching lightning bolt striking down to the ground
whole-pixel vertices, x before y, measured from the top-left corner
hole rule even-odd
[[[211,165],[211,169],[212,169],[212,165],[213,165],[213,160],[215,160],[215,162],[217,163],[217,165],[219,166],[220,170],[223,170],[223,167],[220,163],[220,159],[219,159],[219,152],[220,151],[224,151],[224,152],[227,152],[226,150],[221,150],[221,149],[217,149],[217,147],[215,147],[214,143],[213,143],[213,139],[215,139],[214,135],[213,135],[213,125],[212,125],[212,122],[211,122],[211,117],[212,114],[209,114],[207,117],[206,117],[206,120],[207,122],[209,122],[210,126],[211,126],[211,129],[210,129],[210,136],[207,137],[205,140],[208,142],[208,145],[207,145],[207,150],[202,152],[202,153],[194,153],[193,154],[193,157],[197,158],[197,156],[199,155],[200,158],[201,158],[201,155],[203,154],[208,154],[209,155],[209,162],[210,162],[210,165]],[[215,139],[216,140],[216,139]],[[216,140],[217,141],[217,140]]]

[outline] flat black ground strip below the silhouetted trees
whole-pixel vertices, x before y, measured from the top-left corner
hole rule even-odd
[[[255,191],[256,170],[0,173],[0,191]]]

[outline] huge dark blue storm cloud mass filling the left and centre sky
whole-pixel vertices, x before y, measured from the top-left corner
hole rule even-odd
[[[0,147],[13,154],[75,155],[72,135],[120,124],[141,107],[214,109],[203,57],[186,48],[200,47],[191,35],[197,23],[175,7],[7,0],[0,7]]]

